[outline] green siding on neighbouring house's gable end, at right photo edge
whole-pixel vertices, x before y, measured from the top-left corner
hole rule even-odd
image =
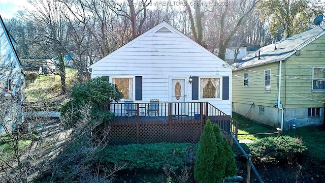
[[[285,61],[285,108],[324,107],[325,92],[312,92],[312,67],[325,67],[321,36]]]

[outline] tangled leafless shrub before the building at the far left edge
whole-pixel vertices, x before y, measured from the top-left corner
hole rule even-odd
[[[28,168],[23,166],[24,149],[19,141],[23,137],[23,82],[15,72],[14,63],[2,59],[0,88],[0,180],[5,177],[10,182],[26,182]]]

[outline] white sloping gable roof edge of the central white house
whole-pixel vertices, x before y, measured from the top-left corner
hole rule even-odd
[[[146,36],[148,36],[151,33],[171,33],[171,34],[178,34],[181,37],[183,37],[184,39],[186,39],[187,41],[191,42],[193,45],[196,45],[197,47],[199,47],[200,49],[202,49],[204,52],[206,52],[207,54],[209,54],[211,57],[214,57],[216,60],[218,60],[219,62],[221,62],[222,65],[225,65],[227,68],[234,69],[232,66],[230,66],[228,63],[226,63],[224,60],[222,60],[221,58],[217,57],[215,54],[211,53],[209,50],[207,50],[206,48],[204,48],[203,46],[201,46],[197,42],[193,41],[192,39],[190,39],[189,37],[187,37],[186,35],[184,35],[180,31],[178,31],[175,27],[173,27],[172,25],[170,25],[166,21],[163,21],[163,22],[159,23],[158,25],[156,25],[153,28],[149,29],[149,31],[143,33],[142,35],[138,36],[134,40],[128,42],[127,44],[123,45],[122,47],[120,47],[117,50],[113,51],[112,53],[108,54],[104,58],[100,59],[98,62],[96,62],[96,63],[92,64],[91,66],[89,66],[89,68],[93,68],[93,67],[99,65],[101,62],[103,62],[103,60],[106,60],[106,59],[110,58],[114,54],[116,54],[119,51],[127,48],[129,45],[131,45],[131,44],[133,44],[133,43],[141,40],[143,37],[146,37]],[[154,43],[152,43],[152,44],[154,44]]]

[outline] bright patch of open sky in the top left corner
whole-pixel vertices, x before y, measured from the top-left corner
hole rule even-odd
[[[24,6],[28,6],[27,0],[0,0],[0,15],[2,18],[13,18]]]

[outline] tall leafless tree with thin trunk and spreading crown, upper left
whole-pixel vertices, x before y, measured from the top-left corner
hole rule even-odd
[[[61,94],[67,92],[66,66],[68,63],[64,56],[71,55],[69,50],[70,39],[66,16],[67,9],[55,0],[34,0],[29,2],[35,7],[25,10],[24,19],[34,25],[35,32],[32,39],[33,45],[39,48],[36,55],[47,55],[56,58],[54,62],[57,70],[52,70],[61,78]]]

